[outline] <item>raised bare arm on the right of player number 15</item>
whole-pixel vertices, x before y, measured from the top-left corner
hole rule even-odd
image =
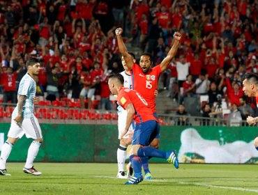
[[[167,70],[169,63],[172,61],[174,56],[176,56],[177,49],[179,49],[181,33],[175,32],[173,37],[174,37],[173,45],[169,50],[169,53],[167,54],[165,59],[163,59],[162,62],[160,63],[161,72],[164,72],[165,70]]]

